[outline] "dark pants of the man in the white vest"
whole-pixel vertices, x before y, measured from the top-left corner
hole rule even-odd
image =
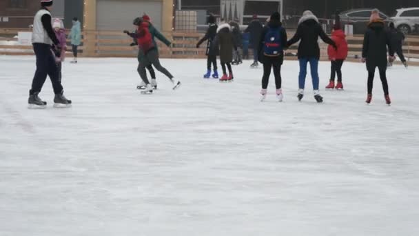
[[[51,46],[45,43],[34,43],[34,52],[37,57],[37,70],[35,71],[34,79],[32,80],[32,88],[30,89],[30,95],[35,92],[41,92],[43,83],[47,79],[47,75],[51,79],[52,88],[54,93],[60,94],[63,92],[63,86],[59,79],[59,70],[55,57],[52,54]]]

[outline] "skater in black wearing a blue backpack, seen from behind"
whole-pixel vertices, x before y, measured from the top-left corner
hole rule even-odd
[[[260,91],[262,101],[266,99],[267,85],[272,68],[274,68],[276,98],[278,101],[283,101],[280,68],[284,61],[284,46],[286,44],[287,32],[280,22],[279,12],[274,12],[267,26],[263,28],[258,49],[260,63],[263,63],[262,90]]]

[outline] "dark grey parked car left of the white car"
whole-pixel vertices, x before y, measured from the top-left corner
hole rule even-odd
[[[363,9],[352,9],[347,10],[345,12],[341,12],[339,14],[340,21],[343,24],[351,24],[354,25],[354,34],[355,35],[363,35],[365,30],[367,30],[367,26],[369,23],[369,17],[371,17],[372,8],[363,8]],[[380,12],[380,17],[389,22],[390,18]]]

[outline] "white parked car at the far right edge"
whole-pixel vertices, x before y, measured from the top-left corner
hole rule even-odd
[[[410,34],[415,30],[415,25],[419,25],[419,8],[398,9],[391,21],[403,34]]]

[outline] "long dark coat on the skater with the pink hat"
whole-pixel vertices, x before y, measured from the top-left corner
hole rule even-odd
[[[387,68],[387,47],[389,55],[393,56],[391,36],[385,30],[384,21],[379,19],[369,23],[362,46],[362,58],[367,59],[367,70],[375,70],[376,67]]]

